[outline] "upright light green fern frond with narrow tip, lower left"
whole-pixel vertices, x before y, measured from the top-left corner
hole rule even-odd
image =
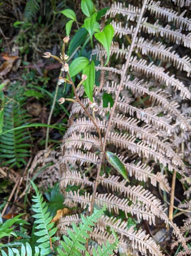
[[[50,212],[47,212],[48,207],[46,206],[46,202],[43,202],[42,194],[32,180],[31,184],[36,192],[36,196],[33,196],[32,199],[35,203],[32,205],[32,210],[36,214],[32,216],[36,219],[34,223],[38,224],[35,227],[38,231],[34,232],[34,235],[40,236],[37,240],[37,243],[39,243],[38,247],[40,248],[40,255],[47,255],[51,253],[50,239],[52,243],[59,239],[58,237],[53,236],[55,235],[57,228],[53,228],[54,222],[51,222],[52,216],[50,216]]]

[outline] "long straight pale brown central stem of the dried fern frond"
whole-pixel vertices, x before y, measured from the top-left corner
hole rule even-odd
[[[109,130],[110,130],[111,122],[112,122],[112,119],[113,119],[113,114],[114,114],[115,108],[116,108],[116,106],[117,106],[118,97],[119,97],[119,95],[120,95],[120,91],[121,91],[121,88],[122,88],[122,86],[123,86],[123,80],[125,79],[126,71],[127,71],[127,69],[128,69],[129,60],[130,60],[131,54],[132,54],[132,52],[133,52],[134,42],[135,42],[136,36],[137,36],[137,34],[138,34],[139,26],[140,26],[140,23],[141,23],[141,19],[142,19],[144,10],[145,10],[146,2],[147,2],[147,0],[144,0],[144,2],[143,2],[143,4],[142,4],[141,13],[140,13],[140,15],[139,15],[139,19],[138,19],[138,22],[137,22],[136,30],[135,30],[135,32],[134,32],[134,36],[133,36],[133,39],[132,39],[132,42],[131,42],[131,47],[130,47],[130,49],[129,49],[129,53],[128,53],[128,56],[127,56],[127,59],[126,59],[125,68],[124,68],[123,73],[122,73],[122,77],[121,77],[119,89],[118,89],[117,95],[116,95],[116,97],[115,97],[115,102],[114,102],[114,104],[113,104],[112,111],[111,111],[111,114],[110,114],[110,118],[109,118],[109,121],[108,121],[107,129],[106,129],[105,137],[104,137],[104,150],[105,150],[105,144],[106,144],[106,142],[107,142],[108,132],[109,132]],[[101,159],[100,159],[100,160],[101,160],[100,163],[102,163],[102,159],[103,159],[103,154],[102,154],[102,157],[101,157]],[[96,193],[96,191],[97,191],[97,186],[98,186],[100,171],[101,171],[101,164],[98,166],[98,170],[97,170],[97,177],[96,177],[96,180],[95,180],[94,190],[93,190],[93,193],[92,193],[91,212],[90,212],[90,214],[92,214],[92,211],[93,211],[95,193]]]

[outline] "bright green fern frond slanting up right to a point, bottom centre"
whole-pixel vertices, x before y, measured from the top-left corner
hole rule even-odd
[[[61,249],[57,249],[60,256],[81,256],[80,251],[85,251],[86,248],[83,244],[86,243],[86,238],[89,238],[87,232],[91,232],[91,226],[94,226],[97,220],[104,214],[105,208],[97,210],[94,208],[94,212],[91,216],[84,217],[81,214],[82,223],[79,223],[77,227],[72,223],[73,231],[67,230],[68,236],[63,236],[64,241],[60,241],[64,252]]]

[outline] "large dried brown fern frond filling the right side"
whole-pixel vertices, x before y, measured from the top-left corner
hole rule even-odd
[[[185,11],[174,10],[170,8],[172,5],[165,6],[164,2],[143,0],[142,5],[136,1],[133,3],[134,6],[113,3],[105,15],[110,17],[109,22],[115,29],[110,65],[103,66],[106,51],[102,46],[97,45],[92,51],[92,55],[101,61],[95,69],[104,74],[100,88],[94,87],[93,98],[97,104],[95,121],[102,138],[98,139],[99,132],[84,117],[81,106],[74,103],[70,114],[73,122],[63,141],[62,162],[67,166],[75,164],[75,170],[78,165],[91,165],[93,175],[90,174],[91,179],[88,180],[82,176],[80,167],[80,172],[65,172],[61,185],[63,188],[71,184],[83,188],[78,192],[65,193],[65,203],[69,207],[80,204],[91,213],[93,205],[102,207],[105,204],[117,218],[121,210],[126,218],[129,214],[137,218],[140,225],[142,220],[155,225],[155,218],[160,218],[172,228],[177,243],[182,243],[187,253],[183,230],[170,221],[171,217],[168,219],[157,192],[152,190],[151,193],[150,189],[151,185],[159,184],[162,190],[170,192],[168,175],[163,175],[163,170],[165,174],[168,170],[177,172],[181,175],[181,182],[189,183],[189,172],[185,166],[190,150],[191,93],[188,77],[191,75],[191,63],[188,49],[184,50],[184,47],[191,47],[191,20]],[[159,18],[155,23],[153,16]],[[112,107],[110,104],[104,107],[104,92],[111,94]],[[83,90],[80,95],[83,95]],[[81,102],[87,106],[89,99]],[[92,114],[91,109],[88,111]],[[144,186],[135,186],[137,182],[128,185],[116,176],[117,171],[115,173],[114,168],[110,170],[104,159],[104,150],[100,153],[99,143],[103,143],[104,150],[120,155],[128,176],[143,181]],[[97,175],[94,175],[96,167]],[[100,172],[108,169],[115,175],[100,176]],[[169,177],[171,179],[171,173]],[[104,194],[105,190],[107,193]],[[62,226],[70,226],[72,220],[80,221],[79,216],[63,220],[61,230]],[[120,235],[120,246],[124,252],[129,246],[137,255],[162,255],[159,246],[144,231],[128,230],[125,223],[115,218],[100,219],[92,232],[92,239],[98,243],[105,241],[110,235],[109,227]]]

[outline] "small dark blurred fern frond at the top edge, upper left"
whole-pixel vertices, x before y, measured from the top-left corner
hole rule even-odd
[[[25,9],[24,9],[24,17],[26,20],[31,21],[39,12],[40,10],[40,0],[29,0],[26,3]]]

